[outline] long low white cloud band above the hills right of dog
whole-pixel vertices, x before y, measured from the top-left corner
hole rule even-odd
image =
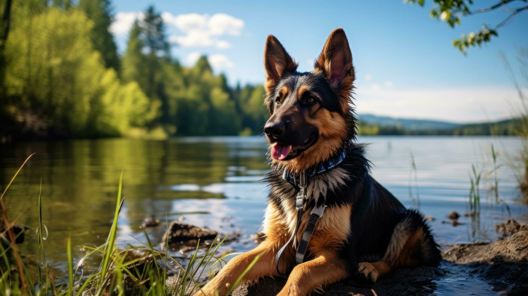
[[[525,93],[528,89],[524,89]],[[373,89],[358,85],[356,111],[394,117],[484,122],[518,115],[512,88]]]

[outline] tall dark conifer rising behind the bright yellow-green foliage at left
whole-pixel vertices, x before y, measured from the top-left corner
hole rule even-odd
[[[80,0],[79,8],[93,22],[91,39],[93,47],[101,53],[106,67],[119,71],[114,36],[108,31],[112,24],[112,12],[109,0]]]

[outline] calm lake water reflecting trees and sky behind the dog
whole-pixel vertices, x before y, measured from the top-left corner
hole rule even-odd
[[[370,143],[367,155],[372,174],[407,207],[417,206],[436,218],[433,233],[442,247],[467,242],[491,242],[498,238],[494,226],[508,218],[503,204],[495,201],[491,144],[499,151],[498,193],[511,216],[526,222],[527,207],[517,189],[514,167],[522,142],[515,137],[360,137]],[[139,228],[143,219],[155,216],[162,224],[148,229],[153,243],[160,243],[168,221],[206,226],[222,234],[239,233],[237,242],[224,251],[244,252],[255,246],[249,238],[261,226],[268,189],[260,182],[269,171],[266,144],[260,137],[189,137],[167,141],[125,138],[27,142],[0,145],[0,188],[3,190],[25,158],[36,152],[4,197],[11,220],[32,227],[22,251],[38,254],[38,197],[42,180],[46,258],[65,270],[65,242],[100,245],[105,242],[114,215],[119,175],[123,172],[124,207],[118,220],[118,242],[146,242]],[[414,181],[411,153],[416,163]],[[459,219],[454,227],[445,217],[468,210],[472,164],[483,172],[480,181],[479,217]],[[412,196],[410,197],[410,188]],[[185,214],[185,212],[199,212]],[[77,260],[83,253],[74,250]],[[435,293],[449,293],[449,286],[466,279],[437,283]],[[452,282],[450,282],[452,281]],[[485,283],[467,280],[468,291],[486,292]],[[484,289],[484,290],[483,290]],[[482,290],[482,291],[481,291]],[[487,290],[489,291],[489,290]],[[493,292],[495,294],[496,292]]]

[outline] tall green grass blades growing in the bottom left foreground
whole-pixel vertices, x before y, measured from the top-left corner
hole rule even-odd
[[[31,155],[30,155],[31,157]],[[29,159],[29,158],[28,158]],[[26,160],[27,161],[27,160]],[[25,162],[24,162],[25,163]],[[22,165],[23,166],[23,165]],[[21,166],[21,169],[22,169]],[[20,169],[9,183],[13,182]],[[9,186],[8,186],[9,187]],[[7,187],[7,188],[8,188]],[[5,196],[7,188],[2,193],[0,201],[2,202],[2,221],[8,226],[7,212],[2,198]],[[206,251],[201,251],[200,241],[196,245],[194,253],[188,258],[187,264],[178,261],[168,254],[168,247],[165,251],[158,250],[145,232],[147,244],[142,242],[142,246],[130,246],[126,249],[119,249],[116,245],[117,238],[117,220],[119,212],[124,202],[121,198],[122,191],[122,173],[119,180],[119,188],[116,199],[116,209],[114,220],[107,237],[106,243],[99,247],[82,246],[87,251],[76,266],[73,266],[73,249],[71,244],[71,235],[67,239],[67,261],[68,261],[68,283],[56,286],[53,275],[48,269],[48,263],[45,257],[44,241],[47,229],[42,223],[42,180],[39,192],[39,266],[37,269],[37,281],[34,285],[31,275],[26,269],[22,257],[16,252],[16,243],[14,234],[11,232],[9,239],[5,234],[10,232],[7,227],[5,232],[0,235],[0,294],[10,295],[190,295],[200,290],[200,282],[204,272],[207,270],[214,274],[215,269],[225,263],[224,257],[215,256],[219,247],[227,238],[222,239],[217,235],[211,242]],[[167,220],[168,225],[168,220]],[[168,242],[165,242],[168,243]],[[89,257],[96,257],[100,260],[99,267],[90,275],[83,275],[84,262]],[[181,257],[178,257],[181,258]],[[258,260],[254,260],[245,274]],[[15,264],[15,266],[12,266]],[[171,266],[169,266],[171,265]],[[186,265],[186,266],[184,266]],[[12,272],[13,267],[17,272]],[[43,268],[45,267],[45,268]],[[168,276],[168,269],[172,268],[175,274]],[[243,276],[243,275],[242,275]],[[234,289],[241,279],[232,285]],[[231,289],[232,291],[232,289]],[[230,292],[231,292],[230,291]]]

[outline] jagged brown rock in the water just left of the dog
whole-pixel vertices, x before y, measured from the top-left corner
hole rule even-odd
[[[198,239],[201,241],[214,239],[216,235],[218,235],[217,232],[207,228],[181,223],[180,221],[173,221],[173,223],[169,225],[167,232],[163,235],[162,241],[165,243],[168,239],[168,244],[170,246],[174,244],[194,243]]]

